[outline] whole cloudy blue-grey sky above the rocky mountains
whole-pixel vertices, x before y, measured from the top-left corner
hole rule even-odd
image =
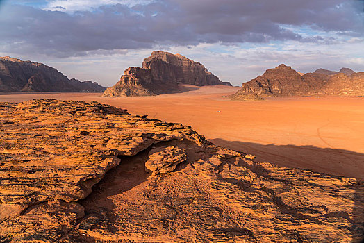
[[[109,86],[154,50],[233,85],[281,63],[364,71],[364,0],[0,0],[0,56]]]

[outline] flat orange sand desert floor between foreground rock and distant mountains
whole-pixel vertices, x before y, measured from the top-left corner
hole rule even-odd
[[[157,97],[104,98],[89,93],[1,94],[0,101],[99,101],[132,114],[192,126],[220,146],[256,161],[364,178],[364,97],[268,98],[230,101],[239,87],[186,86]]]

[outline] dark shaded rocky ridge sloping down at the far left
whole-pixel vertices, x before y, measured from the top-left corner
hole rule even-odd
[[[81,82],[42,63],[0,57],[0,92],[104,92],[96,82]]]

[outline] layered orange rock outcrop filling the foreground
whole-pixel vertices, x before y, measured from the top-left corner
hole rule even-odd
[[[0,242],[363,235],[364,185],[355,178],[254,162],[190,127],[97,102],[0,103],[0,121]]]

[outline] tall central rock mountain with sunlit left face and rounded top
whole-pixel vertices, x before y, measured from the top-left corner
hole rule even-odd
[[[154,51],[142,67],[129,67],[104,97],[146,96],[178,92],[179,83],[189,85],[231,85],[201,65],[180,54]]]

